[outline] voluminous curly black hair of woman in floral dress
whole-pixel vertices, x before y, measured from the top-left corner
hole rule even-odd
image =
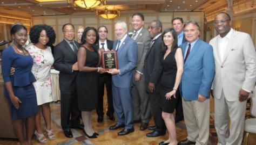
[[[38,43],[38,39],[40,37],[40,33],[42,30],[45,30],[47,37],[49,38],[48,43],[46,46],[52,46],[55,43],[56,34],[53,28],[49,25],[41,24],[41,25],[34,25],[29,33],[30,40],[33,44]]]

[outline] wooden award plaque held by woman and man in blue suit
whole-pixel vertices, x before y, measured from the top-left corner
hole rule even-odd
[[[102,68],[106,70],[113,68],[118,69],[116,50],[105,51],[102,53]]]

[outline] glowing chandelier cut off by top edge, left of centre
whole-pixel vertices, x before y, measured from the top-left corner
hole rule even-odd
[[[100,3],[106,4],[106,0],[68,0],[68,3],[80,8],[90,9],[98,6]]]

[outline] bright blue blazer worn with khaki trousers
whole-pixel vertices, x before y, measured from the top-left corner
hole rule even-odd
[[[188,42],[180,47],[185,56]],[[185,100],[197,100],[198,95],[209,98],[214,77],[214,59],[212,46],[198,39],[184,64],[180,92]]]

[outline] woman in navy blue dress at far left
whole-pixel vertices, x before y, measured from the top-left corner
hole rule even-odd
[[[35,114],[38,109],[36,92],[32,84],[36,81],[31,72],[33,60],[23,48],[28,40],[28,30],[23,25],[14,25],[11,28],[11,37],[12,44],[2,53],[4,94],[9,103],[14,132],[19,142],[32,144]],[[14,75],[10,75],[11,67],[15,68]],[[26,135],[24,135],[24,126],[26,126]]]

